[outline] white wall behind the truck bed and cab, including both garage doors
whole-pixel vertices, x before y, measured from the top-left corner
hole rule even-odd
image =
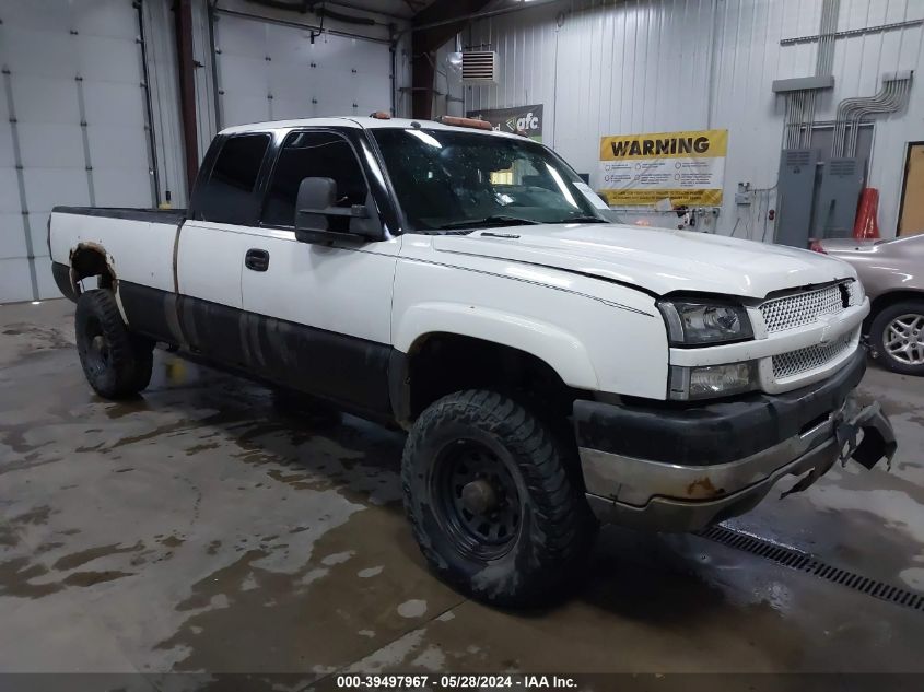
[[[314,15],[220,0],[211,23],[211,1],[192,0],[200,160],[219,127],[391,106],[390,25],[406,22],[344,12],[374,23],[326,20],[312,45],[293,24]],[[0,0],[0,304],[59,295],[46,243],[51,207],[186,206],[172,8]],[[410,85],[406,43],[395,56],[399,109]]]

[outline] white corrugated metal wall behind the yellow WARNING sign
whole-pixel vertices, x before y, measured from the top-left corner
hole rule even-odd
[[[594,174],[600,136],[727,128],[717,228],[727,234],[737,223],[737,235],[760,238],[767,204],[736,208],[736,184],[775,184],[784,104],[771,93],[771,82],[812,74],[818,46],[780,40],[817,34],[821,5],[821,0],[574,1],[480,20],[461,42],[499,51],[498,84],[463,90],[449,71],[448,89],[442,82],[437,87],[451,98],[437,97],[436,106],[460,113],[543,104],[546,143],[577,171]],[[842,0],[838,31],[922,17],[922,0]],[[915,25],[838,38],[835,86],[822,92],[816,113],[816,120],[832,120],[842,98],[874,95],[884,72],[917,70],[907,112],[876,119],[869,185],[880,191],[884,237],[896,230],[907,142],[924,139],[922,35]],[[441,69],[451,49],[441,51]]]

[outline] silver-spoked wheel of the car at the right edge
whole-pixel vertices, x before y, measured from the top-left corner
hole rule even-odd
[[[893,373],[924,376],[924,301],[882,309],[869,327],[878,361]]]

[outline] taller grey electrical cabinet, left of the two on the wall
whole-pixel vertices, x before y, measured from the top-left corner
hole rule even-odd
[[[776,243],[807,248],[815,197],[817,149],[784,149],[780,156]]]

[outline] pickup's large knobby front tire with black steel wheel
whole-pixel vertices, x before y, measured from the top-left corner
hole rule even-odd
[[[566,468],[569,447],[500,394],[428,408],[405,447],[405,509],[431,568],[496,606],[555,597],[583,572],[596,521]]]

